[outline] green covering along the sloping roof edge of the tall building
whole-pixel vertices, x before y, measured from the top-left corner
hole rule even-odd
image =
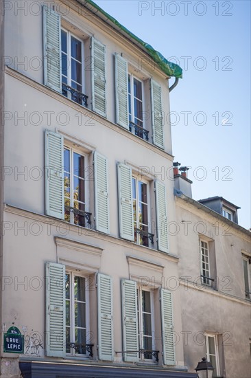
[[[80,1],[78,2],[80,3]],[[143,47],[143,50],[151,56],[156,65],[158,65],[161,71],[165,72],[165,74],[167,74],[168,76],[174,76],[175,78],[182,78],[182,68],[179,65],[169,62],[169,60],[167,60],[162,54],[160,54],[160,52],[156,51],[154,47],[148,45],[148,43],[142,41],[141,38],[130,32],[130,30],[121,25],[121,23],[119,23],[119,21],[117,21],[114,17],[110,16],[110,14],[106,13],[102,8],[100,8],[99,5],[94,3],[92,0],[81,1],[81,4],[85,6],[86,4],[90,4],[91,6],[93,6],[93,8],[97,9],[98,12],[104,14],[104,16],[106,16],[108,20],[112,21],[112,23],[119,27],[120,30],[123,30],[125,34],[128,34],[130,38],[134,39],[134,41],[141,45],[141,47]]]

